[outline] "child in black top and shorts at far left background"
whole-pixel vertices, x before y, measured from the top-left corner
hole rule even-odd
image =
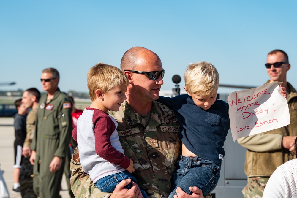
[[[26,115],[28,113],[28,109],[26,109],[25,105],[22,104],[22,99],[18,99],[15,101],[15,107],[18,110],[13,118],[14,127],[15,127],[15,165],[13,166],[13,193],[20,193],[20,168],[22,167],[22,161],[24,156],[22,156],[22,147],[26,138]]]

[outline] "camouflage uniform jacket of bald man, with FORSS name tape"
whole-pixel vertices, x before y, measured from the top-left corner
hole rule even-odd
[[[124,154],[133,160],[132,175],[150,198],[166,198],[171,192],[171,179],[181,151],[179,123],[164,104],[153,102],[151,120],[146,121],[124,102],[118,112],[109,112],[118,122],[118,134]],[[78,151],[70,163],[71,186],[75,197],[109,197],[92,183],[81,170]]]

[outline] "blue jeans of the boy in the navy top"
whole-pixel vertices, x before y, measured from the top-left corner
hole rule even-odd
[[[177,161],[176,171],[173,173],[172,189],[168,198],[173,198],[177,187],[181,187],[187,194],[192,194],[190,186],[197,186],[206,195],[214,190],[220,178],[221,166],[216,162],[200,157],[186,157],[181,155]]]

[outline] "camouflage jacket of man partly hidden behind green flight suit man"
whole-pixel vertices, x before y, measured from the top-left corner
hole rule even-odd
[[[38,105],[36,105],[27,115],[26,121],[26,139],[24,142],[24,147],[31,147],[32,139],[35,133],[35,121],[36,121],[36,114],[37,114]]]

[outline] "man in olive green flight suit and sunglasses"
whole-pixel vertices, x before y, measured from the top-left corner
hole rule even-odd
[[[56,69],[44,69],[40,80],[47,94],[39,101],[31,146],[33,188],[40,198],[59,197],[65,155],[70,155],[72,108],[68,96],[58,88],[59,72]]]

